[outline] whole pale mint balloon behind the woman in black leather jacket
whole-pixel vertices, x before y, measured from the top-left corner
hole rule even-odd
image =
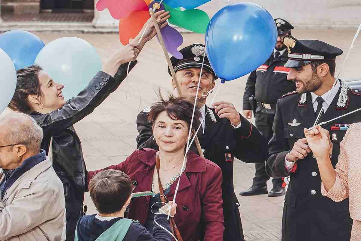
[[[65,85],[65,100],[78,95],[101,70],[101,59],[95,48],[83,39],[64,37],[45,45],[35,59],[57,83]]]

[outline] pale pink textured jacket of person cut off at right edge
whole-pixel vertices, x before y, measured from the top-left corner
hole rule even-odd
[[[321,187],[322,195],[335,202],[348,199],[350,216],[361,221],[361,123],[355,123],[347,130],[340,143],[340,155],[335,171],[335,184],[327,192]]]

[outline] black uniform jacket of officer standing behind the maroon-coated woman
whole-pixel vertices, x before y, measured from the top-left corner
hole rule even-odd
[[[208,107],[206,107],[208,109]],[[153,141],[152,125],[148,121],[150,108],[140,112],[137,117],[137,127],[139,135],[136,138],[137,147],[147,147],[158,150],[158,146]],[[241,126],[234,129],[230,121],[226,118],[219,118],[213,112],[206,115],[205,133],[198,135],[201,147],[206,159],[216,163],[223,174],[222,198],[223,214],[225,217],[225,234],[223,240],[242,240],[237,238],[242,232],[239,217],[239,202],[234,193],[233,185],[233,162],[234,157],[247,163],[263,162],[268,157],[268,145],[254,125],[252,125],[242,115]],[[214,116],[213,120],[212,117]],[[199,130],[202,132],[202,129]],[[239,219],[239,223],[238,222]],[[240,228],[239,228],[240,227]],[[241,230],[239,230],[241,229]],[[231,230],[231,231],[227,231]],[[243,236],[243,234],[242,234]],[[233,238],[232,238],[233,237]]]

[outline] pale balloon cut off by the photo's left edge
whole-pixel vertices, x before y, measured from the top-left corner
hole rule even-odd
[[[16,70],[9,55],[4,50],[0,49],[0,114],[4,111],[6,106],[10,103],[14,96],[16,88]]]

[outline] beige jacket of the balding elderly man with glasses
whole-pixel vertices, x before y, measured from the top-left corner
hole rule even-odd
[[[49,159],[19,177],[3,200],[0,195],[0,240],[61,241],[65,224],[64,188]]]

